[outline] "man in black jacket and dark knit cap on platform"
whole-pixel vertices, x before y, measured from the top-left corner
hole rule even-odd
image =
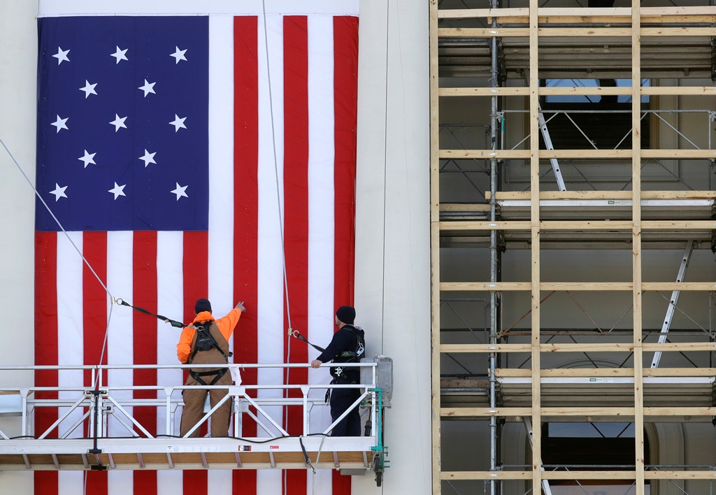
[[[363,330],[355,327],[353,322],[356,310],[350,306],[342,306],[336,312],[338,331],[333,335],[326,350],[315,360],[311,367],[319,367],[324,362],[360,362],[365,354]],[[353,385],[360,383],[359,367],[332,367],[331,376],[334,385]],[[358,398],[359,388],[334,388],[331,391],[331,418],[335,422]],[[333,436],[360,436],[360,413],[353,408],[348,415],[332,431]]]

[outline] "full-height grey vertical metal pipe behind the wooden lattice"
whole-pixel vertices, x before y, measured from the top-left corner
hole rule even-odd
[[[498,0],[490,0],[492,9],[498,8]],[[497,27],[497,19],[493,17],[492,27]],[[490,87],[498,86],[498,57],[497,38],[491,39],[491,64],[490,64]],[[490,97],[490,149],[497,149],[498,121],[498,97]],[[490,221],[495,221],[497,216],[495,193],[498,186],[497,160],[490,159]],[[497,282],[498,278],[498,246],[497,231],[490,231],[490,282]],[[490,344],[497,343],[497,293],[490,292]],[[497,368],[497,353],[490,353],[490,408],[496,407],[496,383],[495,369]],[[490,417],[490,471],[498,467],[498,423],[495,416]],[[496,480],[490,480],[490,495],[497,495],[498,484]]]

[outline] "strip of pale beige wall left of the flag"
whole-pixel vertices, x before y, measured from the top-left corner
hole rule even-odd
[[[0,3],[0,139],[14,155],[24,173],[34,181],[35,77],[37,74],[37,2]],[[34,327],[33,266],[34,196],[6,150],[0,146],[0,300],[5,317],[23,326],[20,336],[31,336]],[[26,330],[25,330],[26,329]],[[3,365],[31,365],[32,337],[18,343],[14,325],[0,326],[0,342],[14,342],[6,349]],[[32,373],[9,375],[0,371],[0,385],[32,385]],[[0,418],[0,428],[19,435],[17,418]],[[32,494],[32,474],[0,473],[0,486],[7,493]]]

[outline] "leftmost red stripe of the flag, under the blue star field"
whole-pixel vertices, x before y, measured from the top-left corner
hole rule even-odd
[[[57,233],[35,232],[35,365],[57,366]],[[57,370],[35,372],[35,385],[57,387]],[[36,399],[57,399],[57,392],[38,392]],[[57,408],[35,410],[35,435],[57,419]],[[57,431],[57,430],[56,430]],[[57,438],[57,433],[52,437]],[[34,493],[56,494],[57,473],[35,471]]]

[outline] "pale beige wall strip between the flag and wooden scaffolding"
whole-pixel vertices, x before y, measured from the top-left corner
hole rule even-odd
[[[362,1],[360,23],[356,307],[369,329],[369,354],[382,352],[395,362],[395,390],[385,419],[391,463],[384,491],[375,488],[369,475],[354,477],[353,493],[427,494],[431,468],[427,1]]]

